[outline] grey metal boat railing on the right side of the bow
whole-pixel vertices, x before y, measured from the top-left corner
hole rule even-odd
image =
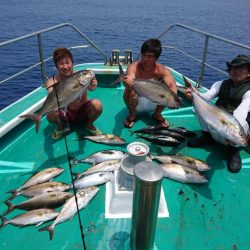
[[[172,24],[172,25],[168,26],[162,33],[160,33],[157,36],[157,38],[161,39],[164,35],[168,34],[172,29],[175,29],[175,28],[185,29],[185,30],[194,32],[195,34],[201,35],[201,36],[203,36],[205,38],[204,39],[204,44],[203,44],[203,53],[202,53],[202,58],[201,59],[191,55],[190,53],[186,53],[183,50],[176,48],[175,46],[168,46],[168,45],[164,45],[164,44],[162,45],[163,48],[175,50],[175,51],[181,53],[182,55],[185,55],[185,56],[191,58],[192,60],[197,61],[200,64],[199,78],[197,80],[197,86],[198,87],[200,87],[202,85],[202,83],[203,83],[204,72],[205,72],[206,67],[212,68],[212,69],[216,70],[217,72],[220,72],[220,73],[223,73],[223,74],[226,74],[226,75],[228,74],[227,72],[220,70],[218,67],[207,63],[209,41],[211,39],[217,40],[217,41],[220,41],[220,42],[223,42],[223,43],[226,43],[226,44],[230,44],[230,45],[236,46],[236,47],[241,48],[241,49],[246,49],[247,51],[250,51],[249,46],[246,46],[244,44],[241,44],[241,43],[238,43],[238,42],[235,42],[235,41],[232,41],[230,39],[226,39],[226,38],[223,38],[223,37],[220,37],[220,36],[217,36],[217,35],[213,35],[213,34],[208,33],[208,32],[204,32],[204,31],[192,28],[190,26],[186,26],[186,25],[183,25],[183,24],[180,24],[180,23],[175,23],[175,24]]]

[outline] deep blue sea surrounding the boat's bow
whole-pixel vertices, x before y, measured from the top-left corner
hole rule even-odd
[[[1,0],[0,43],[60,23],[71,23],[110,55],[112,49],[132,49],[137,58],[143,41],[157,37],[169,25],[181,23],[215,34],[238,43],[250,45],[250,1],[249,0]],[[71,36],[72,31],[46,33],[42,37],[44,57],[51,56],[57,47],[79,45],[80,39]],[[164,45],[176,45],[195,51],[202,46],[197,38],[173,33]],[[203,38],[204,39],[204,38]],[[37,39],[0,47],[0,81],[25,67],[39,61]],[[224,70],[230,61],[244,50],[234,50],[222,43],[212,44],[208,60]],[[223,52],[221,52],[223,49]],[[195,53],[195,52],[193,52]],[[249,52],[248,52],[249,53]],[[91,60],[102,61],[91,52],[74,52],[75,63]],[[193,80],[197,80],[199,65],[190,64],[182,57],[174,59],[172,52],[164,51],[160,62],[175,67]],[[90,60],[90,61],[91,61]],[[47,76],[53,74],[53,65],[46,64]],[[222,77],[207,70],[205,85]],[[0,85],[0,110],[17,100],[31,89],[41,86],[39,69]]]

